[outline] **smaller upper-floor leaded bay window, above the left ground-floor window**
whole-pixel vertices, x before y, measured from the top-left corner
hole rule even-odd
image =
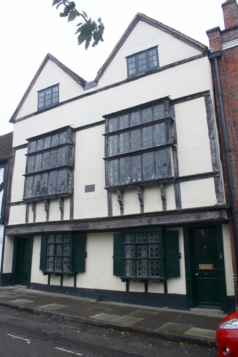
[[[71,129],[30,139],[24,198],[72,193]]]

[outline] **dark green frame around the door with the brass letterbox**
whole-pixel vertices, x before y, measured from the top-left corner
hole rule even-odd
[[[194,277],[193,277],[193,241],[190,238],[189,232],[192,229],[201,228],[216,228],[217,230],[217,253],[218,253],[218,265],[219,265],[219,280],[220,280],[220,297],[221,297],[221,310],[227,313],[227,290],[226,290],[226,276],[224,265],[224,251],[223,251],[223,236],[221,225],[200,225],[190,226],[183,228],[184,239],[184,258],[185,258],[185,275],[186,275],[186,291],[187,291],[187,307],[188,310],[194,307]]]

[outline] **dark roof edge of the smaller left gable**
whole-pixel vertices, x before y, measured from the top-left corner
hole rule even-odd
[[[59,66],[67,75],[69,75],[69,76],[70,76],[75,82],[77,82],[81,87],[84,87],[86,81],[85,81],[82,77],[80,77],[79,75],[77,75],[74,71],[71,71],[68,67],[66,67],[64,64],[62,64],[59,60],[57,60],[57,58],[55,58],[54,56],[52,56],[50,53],[47,53],[47,55],[45,56],[45,58],[44,58],[42,64],[40,65],[39,69],[37,70],[37,72],[36,72],[34,78],[32,79],[32,81],[31,81],[29,87],[27,88],[27,90],[26,90],[24,96],[22,97],[22,99],[21,99],[19,105],[17,106],[15,112],[13,113],[11,119],[9,120],[10,123],[12,123],[12,122],[15,120],[17,114],[19,113],[19,111],[20,111],[22,105],[24,104],[24,102],[25,102],[25,100],[26,100],[27,95],[29,94],[29,92],[30,92],[30,90],[32,89],[32,87],[34,86],[34,84],[35,84],[37,78],[39,77],[39,75],[40,75],[42,69],[45,67],[46,63],[47,63],[49,60],[51,60],[51,61],[54,62],[57,66]]]

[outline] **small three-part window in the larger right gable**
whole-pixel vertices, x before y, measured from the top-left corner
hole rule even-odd
[[[138,52],[126,57],[127,77],[148,72],[159,66],[158,48],[152,47],[148,50]]]

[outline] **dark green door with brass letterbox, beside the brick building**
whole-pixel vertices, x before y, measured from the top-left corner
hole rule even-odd
[[[194,306],[221,308],[216,228],[192,230]]]

